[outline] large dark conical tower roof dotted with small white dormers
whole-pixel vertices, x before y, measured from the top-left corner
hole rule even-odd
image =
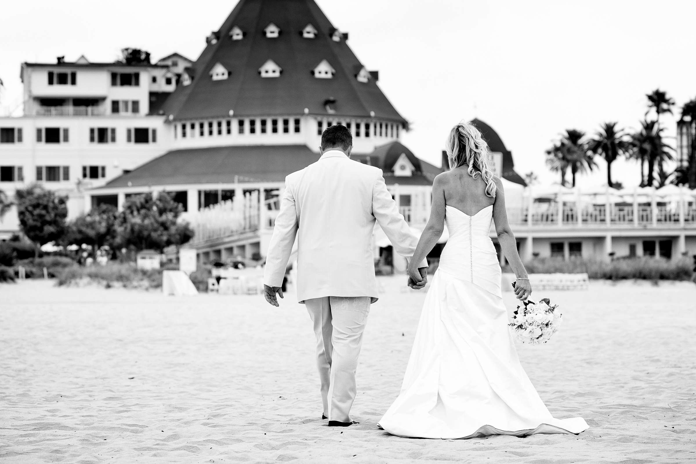
[[[269,23],[280,28],[278,38],[269,39],[264,29]],[[301,31],[311,23],[316,38],[303,38]],[[232,27],[245,35],[231,40]],[[165,105],[175,120],[235,116],[326,115],[324,102],[336,99],[336,115],[394,120],[406,124],[376,79],[358,82],[356,74],[363,65],[351,51],[345,37],[331,39],[333,24],[315,0],[239,0],[232,13],[209,42],[194,65],[196,78],[189,86],[179,86]],[[259,67],[273,60],[283,68],[278,79],[260,79]],[[312,70],[326,59],[335,67],[333,79],[315,79]],[[230,77],[212,81],[208,72],[217,62],[230,70]]]

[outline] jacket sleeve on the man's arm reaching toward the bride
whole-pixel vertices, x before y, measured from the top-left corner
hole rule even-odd
[[[404,216],[399,214],[396,202],[387,190],[381,170],[372,188],[372,214],[396,252],[410,261],[413,253],[416,253],[418,237],[411,232]],[[418,267],[427,266],[427,259],[423,259]]]

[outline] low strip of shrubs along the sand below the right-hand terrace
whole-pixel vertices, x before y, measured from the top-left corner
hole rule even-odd
[[[530,274],[584,273],[591,279],[691,280],[691,260],[686,257],[667,260],[657,257],[615,259],[611,262],[594,259],[535,258],[525,262]],[[509,265],[504,272],[512,272]]]

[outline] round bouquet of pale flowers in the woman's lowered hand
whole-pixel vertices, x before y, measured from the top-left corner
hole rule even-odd
[[[558,305],[552,305],[548,298],[541,298],[539,303],[523,301],[523,304],[524,307],[517,307],[508,324],[517,339],[532,345],[548,342],[562,321]]]

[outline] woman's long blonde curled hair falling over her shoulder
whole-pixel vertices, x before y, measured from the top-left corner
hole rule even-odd
[[[466,164],[471,177],[477,179],[481,176],[486,182],[486,195],[495,198],[497,188],[488,162],[489,152],[488,144],[473,124],[459,122],[452,127],[447,141],[450,170]]]

